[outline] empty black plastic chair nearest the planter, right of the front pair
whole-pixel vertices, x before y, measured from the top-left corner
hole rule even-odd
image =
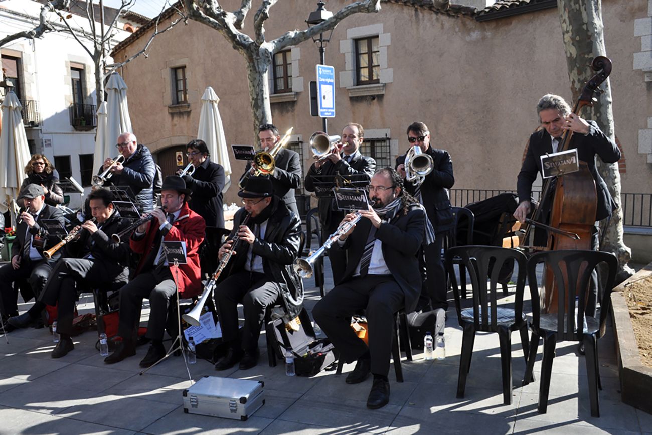
[[[537,284],[537,265],[546,263],[552,268],[557,283],[557,312],[541,314],[539,303],[539,285]],[[600,319],[584,316],[587,290],[591,272],[599,263],[606,263],[609,275],[602,293]],[[543,338],[543,359],[541,363],[541,385],[539,387],[539,413],[546,413],[548,408],[548,393],[550,392],[550,373],[552,360],[555,357],[555,347],[558,341],[579,341],[584,343],[586,355],[586,372],[589,376],[589,399],[591,401],[591,417],[600,417],[598,389],[600,385],[600,366],[598,364],[597,339],[604,335],[606,318],[611,305],[611,292],[614,288],[618,260],[611,252],[594,250],[554,250],[539,252],[527,262],[527,281],[532,297],[532,322],[530,329],[532,338],[530,352],[523,385],[529,383],[529,375],[533,372],[539,338]],[[563,271],[567,274],[564,280]],[[568,284],[568,288],[566,287]],[[576,295],[578,307],[576,307]],[[576,310],[577,308],[577,310]],[[568,315],[571,314],[572,315]],[[585,322],[585,323],[584,323]],[[582,331],[577,325],[583,324]],[[561,327],[560,327],[561,326]]]

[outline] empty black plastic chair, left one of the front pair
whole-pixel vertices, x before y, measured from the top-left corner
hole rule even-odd
[[[459,260],[456,260],[459,259]],[[518,264],[514,308],[497,304],[496,288],[498,275],[503,263],[513,260]],[[473,342],[476,331],[495,332],[500,342],[500,361],[503,374],[503,402],[512,403],[512,345],[511,333],[518,330],[521,335],[524,358],[527,363],[528,338],[527,319],[523,313],[523,292],[526,285],[526,256],[516,249],[467,246],[450,248],[446,252],[446,267],[455,280],[454,262],[459,261],[469,269],[473,288],[473,307],[462,309],[460,292],[453,286],[455,309],[458,321],[464,329],[460,374],[457,383],[457,397],[464,397],[466,377],[471,368]],[[492,264],[493,267],[490,265]],[[487,280],[490,281],[487,286]]]

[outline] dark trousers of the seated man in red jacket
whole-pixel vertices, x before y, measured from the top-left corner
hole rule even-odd
[[[141,273],[120,289],[120,319],[118,335],[125,339],[136,338],[143,298],[149,299],[147,338],[163,340],[170,301],[177,295],[169,267],[160,266]]]

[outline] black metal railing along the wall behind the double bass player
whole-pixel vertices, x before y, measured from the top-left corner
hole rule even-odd
[[[496,196],[500,193],[516,190],[488,190],[488,189],[451,189],[451,204],[454,207],[464,207],[472,202],[478,202]],[[532,196],[539,200],[540,190],[533,190]],[[623,209],[623,225],[652,227],[652,194],[651,193],[622,193],[621,207]]]

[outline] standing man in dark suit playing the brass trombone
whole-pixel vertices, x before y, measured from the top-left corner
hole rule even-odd
[[[258,130],[261,150],[271,151],[281,138],[278,134],[278,128],[273,124],[263,124]],[[243,177],[250,177],[254,174],[254,170],[252,163],[249,162],[244,168]],[[297,209],[297,198],[294,196],[294,190],[301,183],[301,175],[299,153],[286,147],[281,148],[275,157],[274,170],[268,176],[274,187],[274,195],[281,198],[288,209],[296,213],[297,216],[299,216],[299,209]],[[243,177],[241,177],[241,180],[243,180]]]

